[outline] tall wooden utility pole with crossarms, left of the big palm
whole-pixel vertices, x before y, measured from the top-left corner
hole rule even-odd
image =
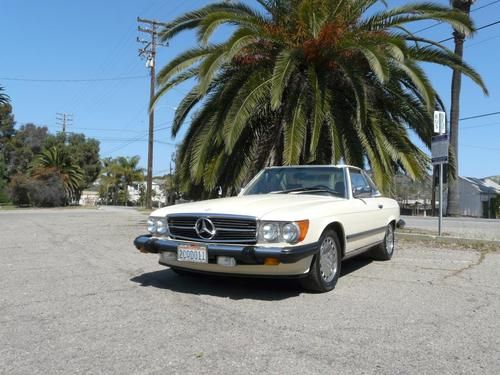
[[[144,18],[137,17],[137,22],[139,24],[147,25],[148,27],[143,27],[139,25],[137,29],[142,32],[149,34],[150,40],[143,40],[137,37],[139,43],[144,44],[143,48],[139,49],[139,56],[146,58],[146,67],[149,68],[150,72],[150,88],[149,88],[149,103],[153,102],[155,95],[155,65],[156,65],[156,48],[157,46],[165,46],[164,44],[158,43],[158,29],[160,26],[168,27],[168,24],[148,20]],[[146,207],[151,208],[151,191],[153,187],[153,143],[154,143],[154,110],[150,108],[149,110],[149,137],[148,137],[148,165],[147,165],[147,177],[146,177]]]

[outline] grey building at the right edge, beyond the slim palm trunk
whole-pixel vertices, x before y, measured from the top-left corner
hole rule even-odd
[[[462,216],[496,218],[499,184],[487,178],[460,177],[458,186]]]

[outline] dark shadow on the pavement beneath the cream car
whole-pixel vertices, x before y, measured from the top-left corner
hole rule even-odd
[[[356,257],[342,263],[341,277],[357,271],[371,260]],[[167,268],[147,272],[130,279],[141,286],[169,289],[173,292],[226,297],[234,300],[284,300],[304,293],[297,279],[231,277],[187,272],[178,275]],[[307,292],[306,292],[307,293]]]

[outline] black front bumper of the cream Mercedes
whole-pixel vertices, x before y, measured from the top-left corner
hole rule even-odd
[[[137,249],[144,253],[177,253],[177,246],[189,241],[156,238],[151,235],[139,236],[134,240]],[[296,263],[311,257],[318,251],[318,243],[289,247],[262,247],[257,245],[225,245],[203,243],[207,246],[208,260],[214,262],[217,256],[233,257],[238,264],[262,265],[266,258],[276,258],[280,263]]]

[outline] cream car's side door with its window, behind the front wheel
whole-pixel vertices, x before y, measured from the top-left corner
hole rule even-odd
[[[357,168],[349,168],[349,176],[353,224],[345,228],[347,252],[381,241],[386,225],[383,201],[370,178]]]

